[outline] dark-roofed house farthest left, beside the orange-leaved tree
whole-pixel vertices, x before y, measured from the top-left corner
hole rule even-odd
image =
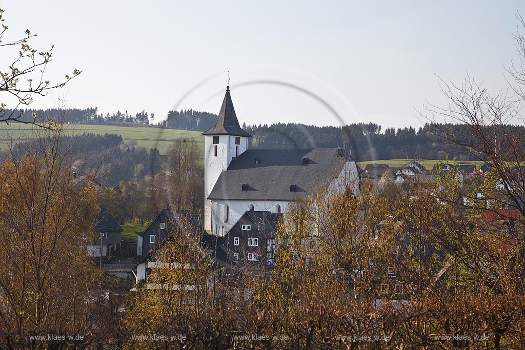
[[[122,228],[108,208],[101,205],[100,213],[95,221],[97,235],[86,248],[90,257],[107,257],[119,251],[122,245]]]

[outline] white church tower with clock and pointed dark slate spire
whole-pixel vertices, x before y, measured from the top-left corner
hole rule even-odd
[[[212,202],[209,193],[223,171],[235,157],[248,149],[248,134],[240,128],[229,86],[213,128],[204,135],[204,229],[212,232]]]

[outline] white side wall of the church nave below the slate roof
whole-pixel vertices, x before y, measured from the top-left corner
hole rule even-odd
[[[286,213],[289,201],[285,200],[214,200],[213,201],[213,222],[211,234],[224,236],[235,225],[246,211],[250,210],[250,204],[255,211],[271,211],[277,213],[277,206],[281,208],[281,213]],[[228,206],[228,221],[225,222],[226,205]]]

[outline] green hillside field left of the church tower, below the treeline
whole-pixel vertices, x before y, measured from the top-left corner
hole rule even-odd
[[[0,128],[0,149],[6,149],[10,140],[33,138],[34,131],[37,128],[37,126],[30,124],[2,124]],[[70,135],[81,135],[83,133],[121,135],[124,141],[137,140],[137,144],[146,147],[146,149],[156,147],[161,154],[165,154],[167,148],[176,139],[194,139],[197,142],[204,143],[204,136],[201,135],[200,131],[162,129],[152,126],[68,124],[66,130],[67,134]],[[204,149],[204,145],[200,148]]]

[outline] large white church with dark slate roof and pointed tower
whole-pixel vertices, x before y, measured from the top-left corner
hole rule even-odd
[[[359,192],[355,161],[341,148],[248,149],[226,87],[213,128],[203,132],[204,229],[228,234],[246,211],[285,214],[294,200],[322,188]]]

